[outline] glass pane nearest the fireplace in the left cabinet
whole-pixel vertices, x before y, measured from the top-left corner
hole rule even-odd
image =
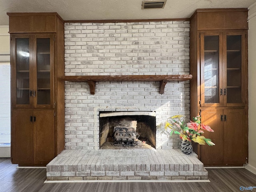
[[[50,104],[50,39],[37,39],[37,104]]]

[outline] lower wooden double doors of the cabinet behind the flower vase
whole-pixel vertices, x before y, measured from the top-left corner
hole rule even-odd
[[[204,166],[243,166],[247,157],[245,109],[201,109],[202,123],[214,132],[205,132],[215,146],[201,146]]]

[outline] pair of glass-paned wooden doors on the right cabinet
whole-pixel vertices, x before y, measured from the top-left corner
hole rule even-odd
[[[245,106],[246,32],[200,32],[201,106]]]

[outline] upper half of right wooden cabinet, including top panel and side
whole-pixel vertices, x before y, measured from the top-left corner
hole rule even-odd
[[[248,105],[248,10],[198,9],[190,18],[190,115]]]

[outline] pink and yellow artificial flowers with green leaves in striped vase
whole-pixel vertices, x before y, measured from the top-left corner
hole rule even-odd
[[[204,136],[201,136],[202,133],[204,133],[204,130],[207,130],[209,132],[214,132],[210,128],[210,126],[201,124],[199,116],[193,117],[194,122],[190,120],[190,122],[186,123],[182,120],[184,116],[182,115],[175,115],[172,116],[170,119],[170,122],[168,120],[165,123],[165,129],[170,132],[170,135],[179,134],[180,138],[183,141],[194,141],[200,145],[205,145],[207,143],[209,146],[215,145],[212,140],[205,138]],[[180,129],[180,132],[174,129],[174,127],[178,127]]]

